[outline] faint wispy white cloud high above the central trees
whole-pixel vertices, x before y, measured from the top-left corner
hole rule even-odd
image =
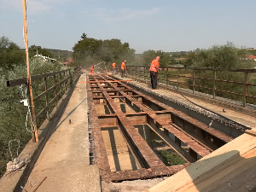
[[[139,19],[143,16],[156,15],[158,13],[160,13],[160,8],[153,8],[149,10],[120,9],[118,11],[109,9],[95,9],[92,16],[96,16],[100,20],[111,22],[119,20]]]

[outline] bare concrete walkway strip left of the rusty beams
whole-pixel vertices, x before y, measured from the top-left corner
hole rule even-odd
[[[81,81],[85,76],[80,77]],[[97,166],[89,166],[86,84],[77,84],[56,131],[49,138],[25,189],[32,191],[101,191]],[[71,119],[71,124],[69,124]],[[34,186],[31,187],[30,181]],[[88,184],[90,183],[90,184]]]

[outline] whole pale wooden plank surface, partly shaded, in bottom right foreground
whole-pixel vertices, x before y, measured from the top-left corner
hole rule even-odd
[[[148,192],[256,191],[256,128],[218,148]]]

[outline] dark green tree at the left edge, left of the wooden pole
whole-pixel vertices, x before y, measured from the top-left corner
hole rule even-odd
[[[26,61],[25,52],[9,38],[0,38],[0,67],[3,69],[13,69],[15,66],[24,64]]]

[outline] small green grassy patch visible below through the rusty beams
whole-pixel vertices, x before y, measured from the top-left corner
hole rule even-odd
[[[163,158],[166,166],[178,166],[186,163],[186,161],[173,150],[161,150],[158,153]]]

